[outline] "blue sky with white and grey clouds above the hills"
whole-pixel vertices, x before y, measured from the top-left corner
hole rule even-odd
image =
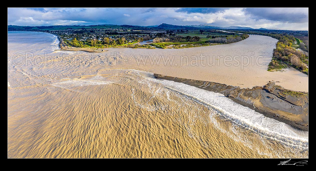
[[[308,30],[308,8],[8,8],[18,26],[162,23]]]

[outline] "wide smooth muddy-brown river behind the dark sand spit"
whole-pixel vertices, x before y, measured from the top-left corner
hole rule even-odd
[[[267,36],[250,35],[249,38],[232,44],[186,49],[107,48],[106,50],[109,51],[106,52],[108,53],[106,56],[116,56],[116,66],[112,66],[112,68],[139,69],[174,77],[240,86],[241,88],[263,86],[269,81],[276,81],[277,85],[286,89],[308,91],[308,75],[295,68],[289,68],[286,72],[267,71],[277,41],[277,39]],[[103,54],[96,55],[102,56]],[[234,59],[232,62],[227,62],[229,57],[225,58],[225,56],[237,56],[235,59],[240,63],[244,62],[244,65],[237,65]],[[243,56],[249,56],[249,58],[244,57],[244,61],[242,61]],[[146,58],[147,61],[144,62]],[[157,62],[159,59],[160,62]],[[249,60],[248,65],[246,65],[247,59]],[[172,60],[172,63],[168,60]],[[227,65],[224,63],[225,60]],[[229,66],[229,64],[231,65]]]

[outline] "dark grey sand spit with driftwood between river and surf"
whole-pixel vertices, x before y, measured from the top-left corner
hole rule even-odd
[[[308,93],[291,91],[269,82],[264,86],[240,88],[210,81],[191,80],[154,74],[156,79],[170,80],[221,93],[235,103],[255,110],[266,117],[286,123],[298,130],[308,131]],[[205,86],[206,85],[206,86]],[[295,96],[300,95],[300,96]]]

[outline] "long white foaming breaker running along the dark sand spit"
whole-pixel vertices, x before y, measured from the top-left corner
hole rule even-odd
[[[219,115],[233,121],[235,124],[250,129],[266,138],[283,144],[308,149],[308,132],[298,131],[289,125],[265,117],[248,107],[235,103],[220,93],[206,91],[194,86],[163,80],[165,88],[203,104],[218,112]]]

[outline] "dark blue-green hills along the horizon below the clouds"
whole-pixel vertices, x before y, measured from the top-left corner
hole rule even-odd
[[[229,27],[218,27],[207,24],[200,25],[191,25],[191,26],[177,26],[162,23],[161,25],[155,26],[132,26],[132,25],[115,25],[115,24],[98,24],[98,25],[90,25],[90,26],[15,26],[8,25],[8,31],[40,31],[40,30],[66,30],[66,29],[102,29],[102,28],[112,28],[112,29],[133,29],[133,30],[155,30],[155,29],[165,29],[165,30],[173,30],[173,29],[245,29],[245,30],[254,30],[251,27],[239,27],[239,26],[229,26]],[[259,30],[267,30],[265,28],[259,28]]]

